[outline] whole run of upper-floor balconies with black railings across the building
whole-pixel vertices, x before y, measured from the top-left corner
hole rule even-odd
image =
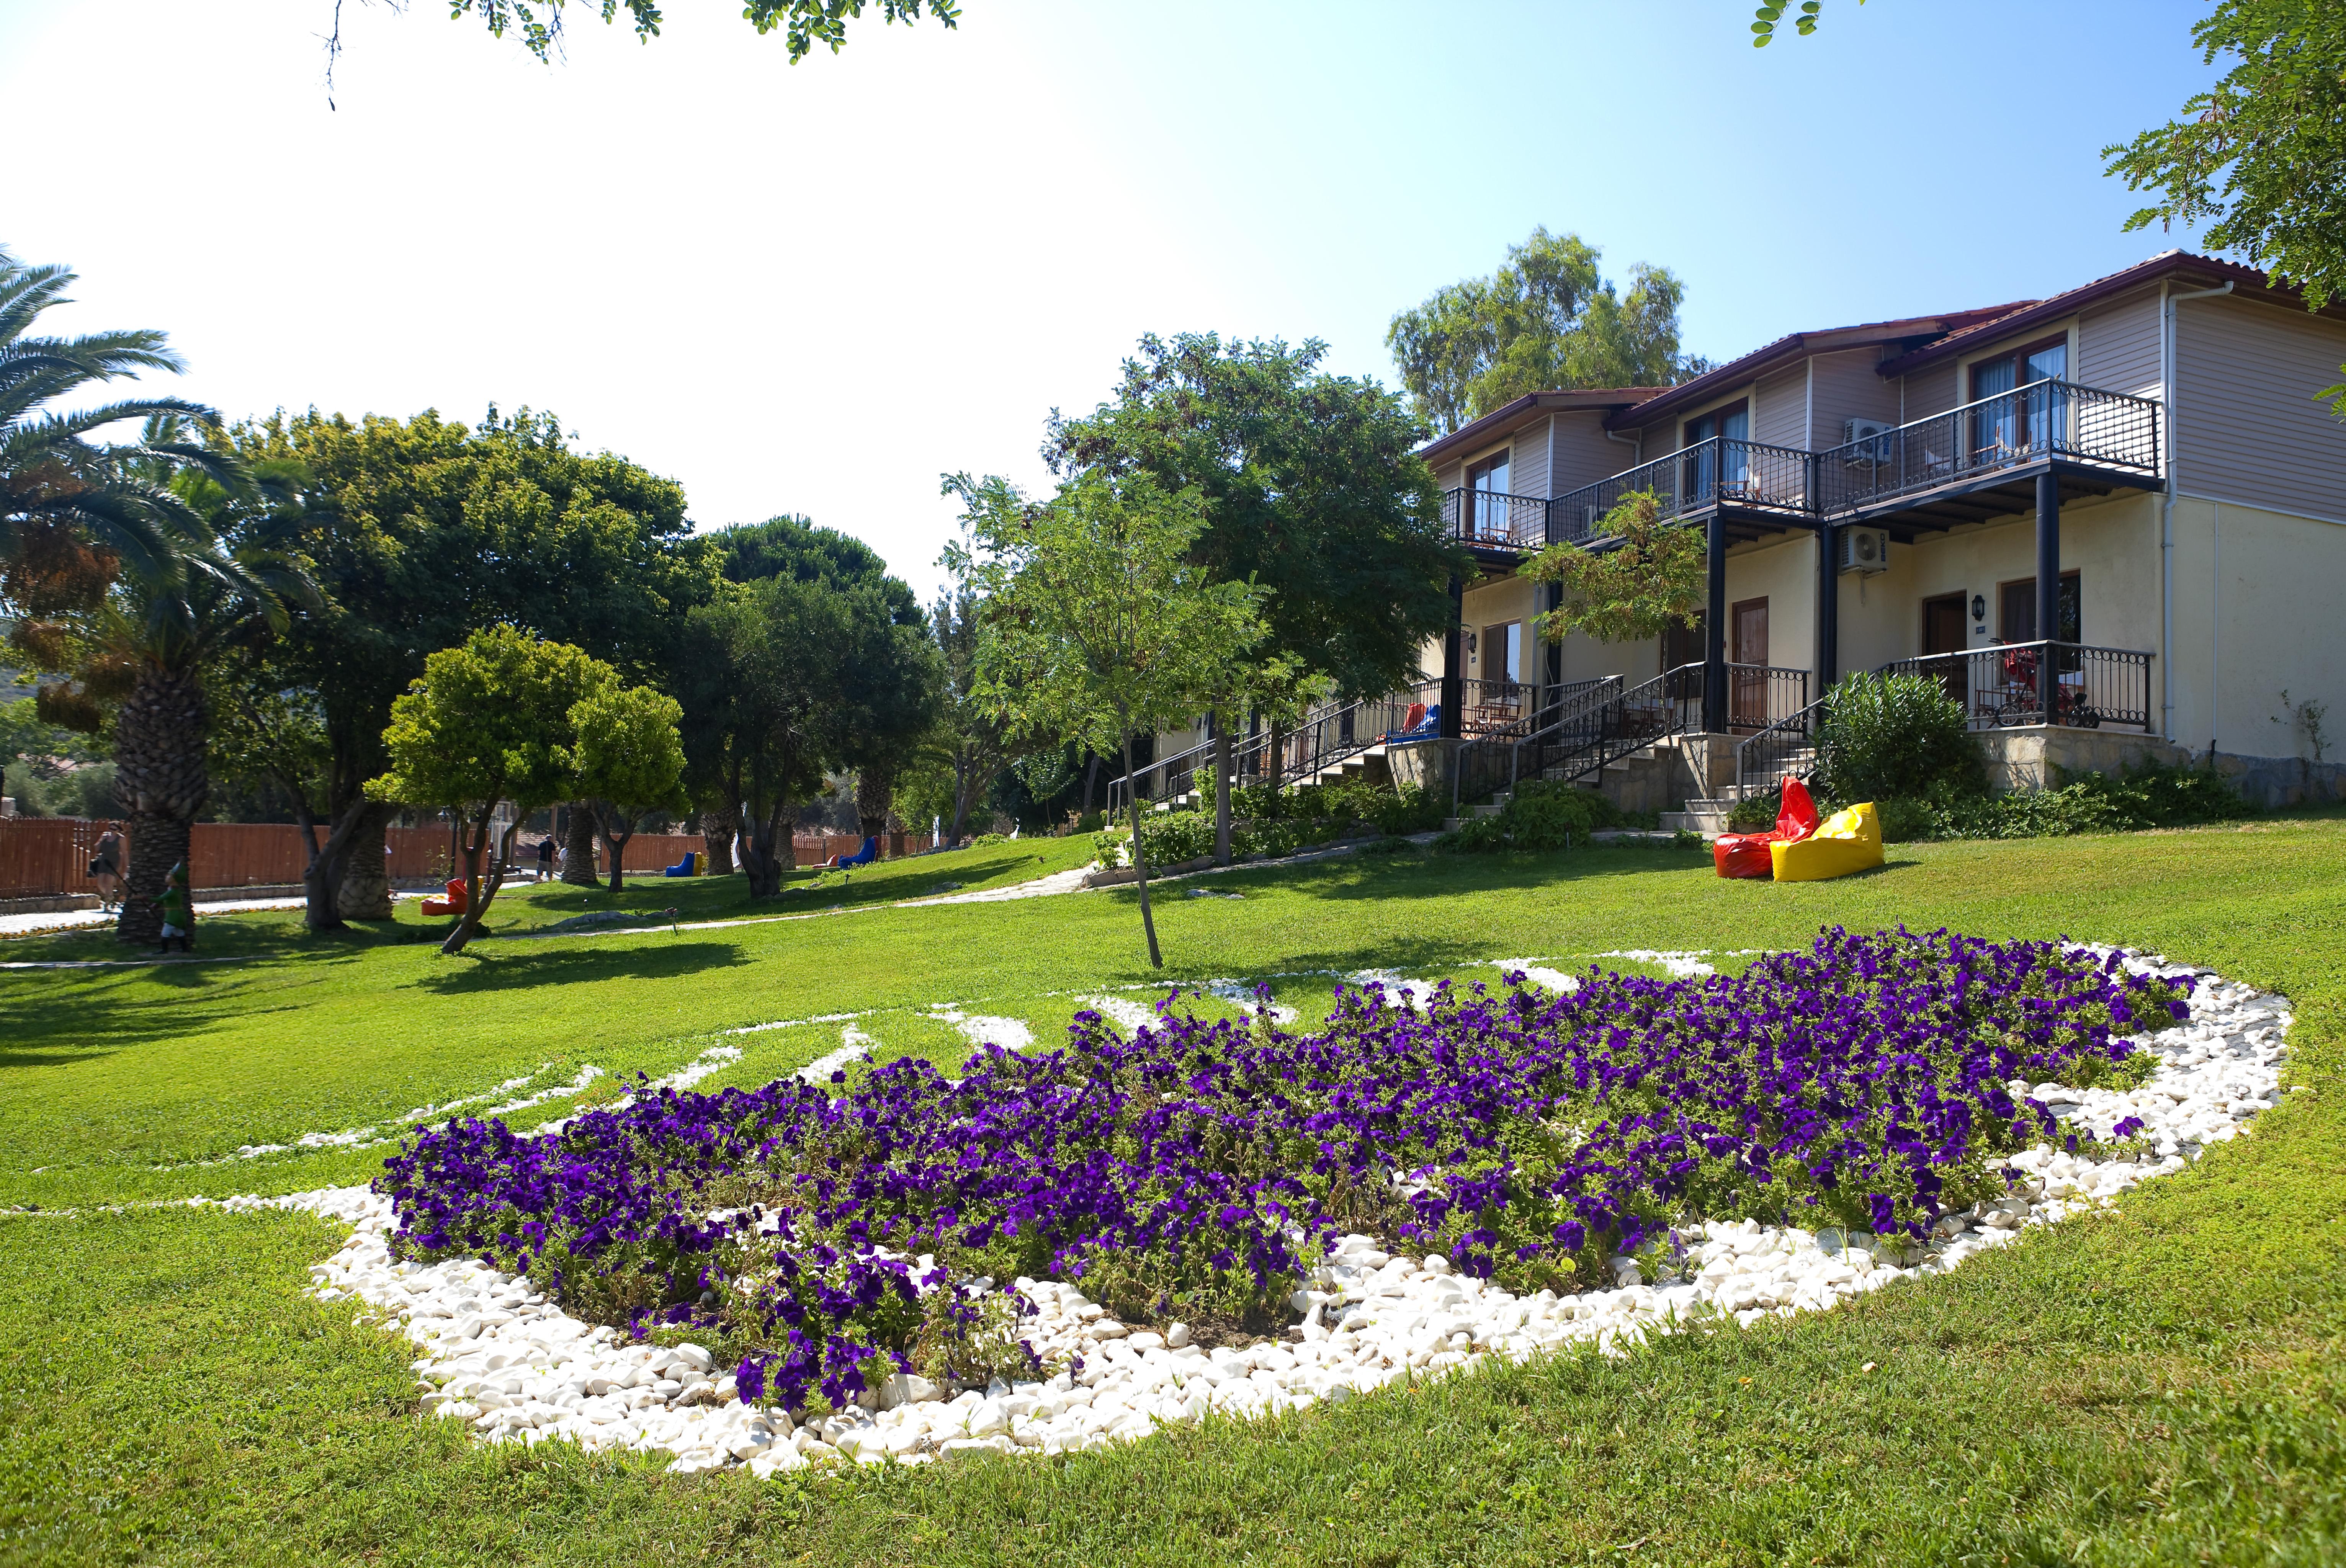
[[[1720,436],[1553,499],[1450,490],[1443,527],[1501,565],[1600,539],[1621,497],[1647,490],[1666,520],[1717,516],[1738,539],[1823,523],[1874,523],[1912,539],[2027,511],[2046,471],[2064,502],[2158,485],[2158,403],[2034,382],[1823,452]]]

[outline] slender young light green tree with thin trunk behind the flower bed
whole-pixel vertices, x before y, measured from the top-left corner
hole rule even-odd
[[[999,478],[948,488],[978,551],[957,567],[990,600],[978,689],[1013,736],[1114,748],[1131,773],[1133,738],[1194,715],[1267,633],[1260,586],[1196,565],[1206,504],[1194,492],[1096,471],[1042,504]],[[1133,865],[1150,963],[1164,968],[1138,795]]]

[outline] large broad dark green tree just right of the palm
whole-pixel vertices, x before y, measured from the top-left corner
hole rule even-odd
[[[481,626],[521,626],[612,663],[631,682],[678,668],[685,612],[716,586],[713,546],[692,537],[685,492],[612,452],[572,452],[551,415],[495,408],[479,427],[425,410],[347,420],[310,410],[235,431],[253,464],[300,471],[289,548],[319,584],[260,680],[307,691],[328,764],[331,823],[305,870],[312,930],[389,914],[382,773],[392,701],[432,649]],[[591,823],[589,811],[577,811]],[[591,879],[589,855],[572,865]]]

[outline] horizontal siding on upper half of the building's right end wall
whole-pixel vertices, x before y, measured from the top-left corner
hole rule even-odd
[[[2346,518],[2346,424],[2313,394],[2346,328],[2245,300],[2175,309],[2175,478],[2191,495]]]

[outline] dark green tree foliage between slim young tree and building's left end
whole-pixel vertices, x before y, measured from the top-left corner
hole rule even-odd
[[[1264,591],[1262,652],[1344,696],[1382,696],[1417,677],[1466,560],[1417,457],[1424,429],[1377,382],[1321,370],[1325,352],[1143,338],[1114,401],[1051,415],[1044,457],[1056,473],[1147,473],[1168,497],[1194,492],[1192,560]]]

